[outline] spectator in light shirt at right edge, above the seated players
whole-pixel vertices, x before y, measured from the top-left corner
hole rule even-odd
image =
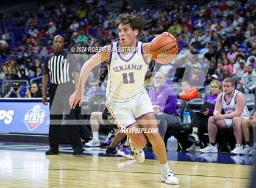
[[[244,82],[244,92],[245,93],[255,93],[255,87],[256,87],[256,73],[252,67],[252,65],[247,65],[246,67],[247,73],[245,73],[242,78],[242,81]]]

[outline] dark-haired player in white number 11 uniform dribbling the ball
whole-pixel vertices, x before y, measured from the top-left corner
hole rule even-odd
[[[96,53],[85,62],[81,70],[79,86],[69,98],[69,104],[72,109],[78,103],[81,106],[82,93],[91,69],[103,61],[108,61],[106,105],[118,126],[126,127],[127,130],[133,127],[157,129],[154,110],[148,93],[144,89],[144,77],[151,61],[149,55],[151,43],[137,41],[137,36],[143,27],[142,20],[138,16],[123,13],[116,19],[115,26],[120,40],[105,46],[104,52]],[[168,32],[163,32],[162,35],[172,36]],[[120,47],[124,53],[120,52]],[[136,50],[129,51],[125,47],[135,47]],[[139,163],[144,161],[143,148],[148,138],[162,169],[161,180],[166,184],[179,184],[176,176],[169,169],[165,143],[158,132],[129,132],[127,136],[130,139],[133,157]]]

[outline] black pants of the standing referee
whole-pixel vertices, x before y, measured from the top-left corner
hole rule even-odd
[[[49,126],[49,146],[59,147],[59,132],[62,125],[63,115],[65,116],[68,127],[71,146],[74,148],[82,147],[79,137],[79,127],[76,122],[75,111],[69,106],[69,96],[74,92],[73,82],[64,84],[51,84],[50,95],[50,126]]]

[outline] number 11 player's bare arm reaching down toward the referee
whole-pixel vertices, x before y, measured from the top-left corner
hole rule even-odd
[[[109,61],[110,58],[110,45],[106,45],[102,52],[98,52],[93,55],[87,62],[84,63],[81,72],[80,78],[77,86],[77,90],[69,97],[69,105],[71,109],[75,109],[76,105],[79,103],[79,106],[82,105],[82,96],[85,88],[85,83],[87,81],[88,75],[91,70],[97,65],[101,64],[104,61]]]

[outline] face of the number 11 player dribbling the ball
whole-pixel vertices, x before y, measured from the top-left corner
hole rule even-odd
[[[138,30],[132,30],[130,25],[119,24],[118,36],[123,46],[132,46],[137,40]]]

